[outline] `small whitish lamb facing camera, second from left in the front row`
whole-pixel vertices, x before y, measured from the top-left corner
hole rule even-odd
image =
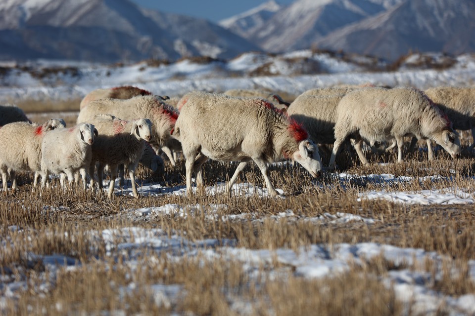
[[[65,177],[69,183],[79,171],[86,189],[86,178],[91,164],[91,145],[97,137],[93,124],[80,123],[71,128],[52,130],[43,137],[41,170],[46,174],[60,174],[60,184],[65,187]],[[45,181],[46,181],[45,177]],[[45,182],[42,179],[42,187]]]

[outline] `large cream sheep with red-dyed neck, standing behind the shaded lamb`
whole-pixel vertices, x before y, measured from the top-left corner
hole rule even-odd
[[[121,119],[148,118],[152,122],[152,141],[150,145],[158,154],[161,149],[175,165],[172,150],[181,151],[180,142],[170,133],[175,126],[178,112],[165,104],[161,97],[154,95],[137,96],[131,99],[100,99],[92,101],[79,112],[77,122],[93,119],[97,114],[110,114]]]

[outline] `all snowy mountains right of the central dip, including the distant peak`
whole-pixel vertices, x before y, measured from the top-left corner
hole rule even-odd
[[[239,29],[241,21],[262,20],[258,8],[220,25],[270,52],[318,47],[394,60],[410,50],[475,51],[473,0],[296,0],[266,11],[260,26]]]

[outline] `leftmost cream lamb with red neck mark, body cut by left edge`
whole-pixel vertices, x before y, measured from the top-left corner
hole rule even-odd
[[[29,122],[12,122],[0,128],[0,173],[3,191],[7,191],[7,171],[12,182],[11,190],[17,189],[16,171],[33,171],[33,187],[36,188],[41,172],[41,143],[44,135],[55,128],[63,128],[66,123],[62,118],[52,118],[43,125]],[[46,180],[45,180],[46,181]]]

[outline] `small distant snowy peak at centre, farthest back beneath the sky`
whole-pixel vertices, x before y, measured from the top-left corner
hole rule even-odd
[[[247,38],[255,30],[264,28],[276,12],[283,7],[275,0],[270,0],[248,11],[221,20],[218,24],[243,38]]]

